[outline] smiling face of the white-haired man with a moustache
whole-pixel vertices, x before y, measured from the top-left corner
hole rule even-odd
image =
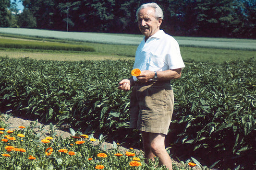
[[[144,8],[138,13],[138,26],[146,39],[158,32],[161,23],[162,19],[156,19],[155,10],[153,8]]]

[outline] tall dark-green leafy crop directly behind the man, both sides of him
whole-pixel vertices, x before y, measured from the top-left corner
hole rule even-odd
[[[256,159],[255,59],[219,65],[187,63],[172,81],[173,151],[219,167],[252,167]],[[129,127],[130,91],[117,90],[133,61],[61,62],[0,58],[0,111],[69,124],[108,140],[139,142]],[[124,133],[125,131],[125,133]],[[133,143],[134,142],[134,143]],[[179,154],[178,154],[179,155]],[[207,155],[207,157],[206,157]]]

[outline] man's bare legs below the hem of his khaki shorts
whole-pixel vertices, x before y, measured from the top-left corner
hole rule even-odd
[[[142,132],[142,140],[145,158],[154,160],[154,156],[157,156],[161,165],[172,170],[171,158],[165,149],[165,135]]]

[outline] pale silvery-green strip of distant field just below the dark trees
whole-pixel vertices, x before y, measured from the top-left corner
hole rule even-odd
[[[0,28],[2,34],[19,34],[45,38],[57,38],[76,40],[89,43],[114,44],[114,45],[138,45],[142,35],[132,34],[103,34],[103,33],[78,33],[49,30],[36,30],[24,28]],[[180,46],[207,47],[219,49],[237,49],[256,51],[256,40],[234,38],[205,38],[205,37],[174,37]]]

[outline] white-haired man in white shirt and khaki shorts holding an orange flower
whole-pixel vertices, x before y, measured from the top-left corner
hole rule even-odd
[[[141,73],[122,79],[118,89],[128,91],[134,86],[130,127],[141,131],[145,157],[157,156],[162,165],[172,170],[171,158],[165,149],[174,104],[170,80],[180,78],[185,66],[177,41],[160,30],[163,12],[158,4],[143,4],[136,16],[139,29],[145,35],[134,62],[134,68],[139,68]]]

